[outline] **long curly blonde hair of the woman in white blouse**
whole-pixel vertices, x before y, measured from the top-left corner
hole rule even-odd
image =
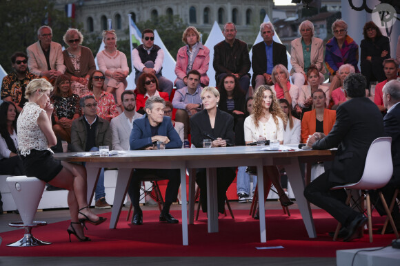
[[[275,124],[277,125],[277,128],[279,127],[278,117],[281,118],[283,124],[286,124],[287,118],[285,113],[283,113],[281,107],[279,107],[277,96],[275,96],[274,91],[272,91],[272,89],[266,85],[261,85],[260,87],[258,87],[253,95],[254,100],[253,100],[252,117],[254,124],[256,125],[256,127],[259,127],[259,120],[264,115],[264,109],[263,109],[264,91],[271,91],[272,93],[272,102],[269,111],[272,115],[272,118],[274,119]]]

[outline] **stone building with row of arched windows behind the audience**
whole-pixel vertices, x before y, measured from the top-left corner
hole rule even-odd
[[[272,18],[272,0],[56,0],[57,8],[67,3],[75,4],[75,19],[89,33],[101,34],[107,29],[108,19],[119,38],[128,38],[128,14],[135,23],[154,19],[157,16],[178,14],[184,23],[209,33],[214,21],[221,28],[232,21],[237,25],[237,37],[243,41],[254,41],[259,25],[266,14]]]

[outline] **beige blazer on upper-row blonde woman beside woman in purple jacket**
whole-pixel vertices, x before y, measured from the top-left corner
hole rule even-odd
[[[292,76],[294,73],[306,74],[304,72],[304,57],[303,46],[301,45],[301,37],[292,41],[292,51],[290,55],[290,63],[292,64],[290,76]],[[323,41],[320,38],[311,38],[310,59],[311,65],[315,65],[322,74],[326,73],[325,66],[323,65]]]

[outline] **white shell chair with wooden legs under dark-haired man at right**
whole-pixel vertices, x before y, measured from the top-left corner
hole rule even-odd
[[[370,242],[372,242],[372,221],[371,221],[371,204],[370,204],[370,194],[369,190],[377,190],[379,188],[383,188],[388,184],[390,178],[393,174],[393,164],[392,164],[392,153],[391,153],[391,137],[378,137],[374,142],[372,142],[367,158],[366,165],[364,166],[363,175],[357,183],[346,184],[343,186],[335,186],[331,188],[332,190],[336,189],[356,189],[363,190],[366,193],[367,199],[367,214],[368,214],[368,232],[370,235]],[[382,201],[383,207],[386,210],[386,214],[388,215],[390,224],[392,228],[396,228],[394,225],[394,221],[392,219],[392,215],[390,214],[388,205],[386,204],[385,198],[382,195],[382,192],[379,192],[379,197]],[[350,203],[351,192],[348,192],[348,198],[346,200],[346,204]],[[334,234],[333,240],[337,239],[337,235],[339,234],[339,230],[341,228],[341,223],[337,225],[336,232]],[[394,230],[396,237],[399,238],[399,234],[397,230]]]

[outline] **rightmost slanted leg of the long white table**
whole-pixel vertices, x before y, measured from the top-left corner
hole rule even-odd
[[[315,232],[314,219],[312,219],[312,212],[310,203],[304,197],[303,192],[305,188],[304,179],[301,177],[301,170],[299,160],[297,158],[290,158],[290,164],[285,165],[285,170],[288,175],[288,180],[292,186],[293,194],[299,206],[301,217],[303,217],[304,225],[310,238],[317,237]]]

